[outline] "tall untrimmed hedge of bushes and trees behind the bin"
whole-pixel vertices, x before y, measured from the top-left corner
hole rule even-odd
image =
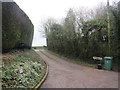
[[[93,19],[80,20],[77,19],[78,16],[74,16],[74,12],[72,13],[71,10],[70,13],[68,12],[62,24],[49,24],[49,22],[48,25],[46,24],[48,49],[86,61],[92,60],[93,56],[111,56],[113,64],[117,66],[120,63],[118,62],[120,59],[120,2],[116,6],[110,7],[110,48],[107,16],[104,18],[99,16],[99,19],[93,15]],[[73,19],[74,17],[76,19]]]

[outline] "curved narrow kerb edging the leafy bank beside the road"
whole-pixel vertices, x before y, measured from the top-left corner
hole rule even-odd
[[[36,52],[36,51],[35,51]],[[37,53],[37,52],[36,52]],[[37,53],[38,54],[38,53]],[[38,54],[39,55],[39,54]],[[39,55],[40,56],[40,55]],[[41,56],[40,56],[41,57]],[[41,58],[42,59],[42,58]],[[42,59],[43,60],[43,59]],[[44,60],[43,60],[44,61]],[[39,89],[40,87],[41,87],[41,85],[44,83],[44,81],[46,80],[46,78],[47,78],[47,75],[48,75],[48,73],[49,73],[49,67],[48,67],[48,64],[44,61],[44,63],[46,64],[46,73],[45,73],[45,75],[44,75],[44,77],[42,78],[42,80],[40,81],[40,83],[37,85],[37,86],[35,86],[34,87],[34,90],[37,90],[37,89]]]

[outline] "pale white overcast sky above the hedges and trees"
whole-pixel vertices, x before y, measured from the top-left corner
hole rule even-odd
[[[48,18],[62,19],[69,8],[93,8],[107,0],[14,0],[34,24],[33,46],[46,45],[40,25]],[[109,0],[110,3],[113,0]]]

